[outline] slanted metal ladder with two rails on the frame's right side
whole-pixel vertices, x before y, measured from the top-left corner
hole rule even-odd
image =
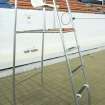
[[[72,67],[71,67],[71,64],[70,64],[70,59],[69,59],[68,54],[67,54],[65,41],[64,41],[64,36],[63,36],[63,32],[62,32],[61,21],[60,21],[60,17],[59,17],[59,14],[58,14],[58,10],[57,10],[57,7],[56,7],[55,0],[53,0],[53,4],[54,4],[54,8],[55,8],[55,11],[57,13],[57,18],[58,18],[58,21],[59,21],[60,36],[61,36],[62,45],[63,45],[63,49],[64,49],[64,54],[65,54],[65,59],[66,59],[66,63],[67,63],[68,74],[70,76],[70,82],[72,84],[72,91],[73,91],[73,95],[74,95],[75,105],[81,105],[80,99],[82,98],[82,94],[83,94],[84,91],[86,91],[87,95],[88,95],[87,105],[91,105],[90,89],[89,89],[90,87],[89,87],[89,84],[88,84],[88,81],[87,81],[87,76],[86,76],[87,73],[86,73],[86,70],[85,70],[85,65],[84,65],[84,62],[83,62],[83,58],[82,58],[81,51],[80,51],[80,46],[79,46],[78,39],[77,39],[75,25],[74,25],[74,22],[73,22],[73,17],[72,17],[70,5],[69,5],[70,3],[69,3],[68,0],[65,0],[65,1],[66,1],[67,10],[68,10],[68,13],[69,13],[69,18],[71,20],[71,25],[72,25],[72,27],[70,27],[70,28],[73,29],[72,31],[74,33],[74,38],[75,38],[76,46],[77,46],[77,50],[78,50],[77,53],[79,54],[79,59],[80,59],[80,65],[77,66],[76,68],[74,68],[73,70],[72,70]],[[79,72],[82,71],[83,79],[84,79],[85,82],[80,87],[80,89],[76,90],[75,89],[75,83],[74,83],[74,74],[78,70],[79,70]]]

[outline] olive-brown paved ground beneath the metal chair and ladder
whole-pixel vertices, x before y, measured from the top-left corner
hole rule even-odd
[[[105,51],[87,55],[84,58],[91,85],[92,105],[104,105]],[[77,59],[73,59],[73,68],[78,63]],[[66,64],[61,62],[44,69],[43,85],[39,70],[16,76],[17,105],[74,105]],[[81,74],[74,78],[78,87],[82,83],[80,77]],[[87,105],[85,98],[82,101],[81,105]],[[0,79],[0,105],[12,105],[12,77]]]

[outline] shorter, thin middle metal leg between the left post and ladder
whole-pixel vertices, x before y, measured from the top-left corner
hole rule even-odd
[[[43,1],[44,3],[46,1]],[[41,83],[43,85],[43,71],[44,71],[44,37],[45,37],[45,30],[46,30],[46,9],[43,8],[43,33],[42,33],[42,54],[41,54]]]

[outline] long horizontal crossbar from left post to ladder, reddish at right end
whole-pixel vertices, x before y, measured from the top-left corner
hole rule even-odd
[[[72,32],[74,29],[73,28],[63,28],[62,32],[63,33],[67,33],[67,32]],[[59,28],[55,28],[55,29],[47,29],[47,30],[42,30],[42,29],[38,29],[38,30],[25,30],[25,31],[17,31],[16,33],[60,33],[60,29]]]

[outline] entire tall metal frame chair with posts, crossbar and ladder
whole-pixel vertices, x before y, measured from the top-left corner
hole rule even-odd
[[[75,105],[82,105],[81,104],[81,99],[83,97],[83,93],[86,93],[86,95],[88,96],[88,103],[87,105],[91,104],[90,101],[90,92],[89,92],[89,84],[87,82],[87,78],[86,78],[86,71],[85,71],[85,67],[84,67],[84,63],[83,63],[83,59],[81,56],[81,52],[80,52],[80,48],[79,48],[79,44],[78,44],[78,40],[77,40],[77,35],[76,35],[76,31],[75,31],[75,27],[74,27],[74,23],[73,23],[73,18],[72,18],[72,14],[71,14],[71,10],[70,10],[70,6],[69,6],[69,2],[68,0],[66,0],[66,4],[67,4],[67,9],[68,9],[68,13],[69,13],[69,19],[71,21],[71,27],[70,28],[62,28],[62,24],[61,24],[61,20],[60,20],[60,16],[58,13],[58,8],[59,6],[56,5],[55,0],[53,0],[53,5],[51,4],[47,4],[46,1],[43,3],[43,5],[36,7],[36,9],[39,10],[43,10],[43,29],[41,30],[28,30],[28,31],[16,31],[16,20],[17,20],[17,2],[15,2],[15,28],[14,28],[14,53],[13,53],[13,105],[16,105],[16,94],[15,94],[15,58],[16,58],[16,33],[42,33],[42,55],[41,55],[41,81],[43,84],[43,71],[44,71],[44,40],[45,40],[45,33],[59,33],[60,34],[60,38],[61,38],[61,42],[62,42],[62,46],[63,46],[63,50],[64,50],[64,54],[65,54],[65,59],[66,59],[66,63],[67,63],[67,68],[68,68],[68,74],[70,77],[70,82],[72,84],[72,90],[73,90],[73,95],[74,95],[74,100],[75,100]],[[58,24],[59,27],[58,28],[53,28],[53,29],[46,29],[46,10],[53,10],[54,13],[56,14],[56,18],[58,20]],[[66,45],[65,45],[65,40],[64,40],[64,35],[63,33],[67,33],[67,32],[72,32],[74,33],[74,38],[76,41],[76,48],[78,50],[78,54],[79,54],[79,61],[80,61],[80,65],[77,66],[75,69],[72,70],[71,67],[71,60],[69,59],[68,53],[67,53],[67,49],[66,49]],[[74,48],[74,47],[73,47]],[[71,48],[72,49],[72,48]],[[70,49],[70,50],[71,50]],[[82,86],[77,89],[75,86],[75,81],[74,81],[74,77],[76,75],[78,75],[78,72],[82,73],[82,79],[84,80]],[[85,104],[86,105],[86,104]]]

